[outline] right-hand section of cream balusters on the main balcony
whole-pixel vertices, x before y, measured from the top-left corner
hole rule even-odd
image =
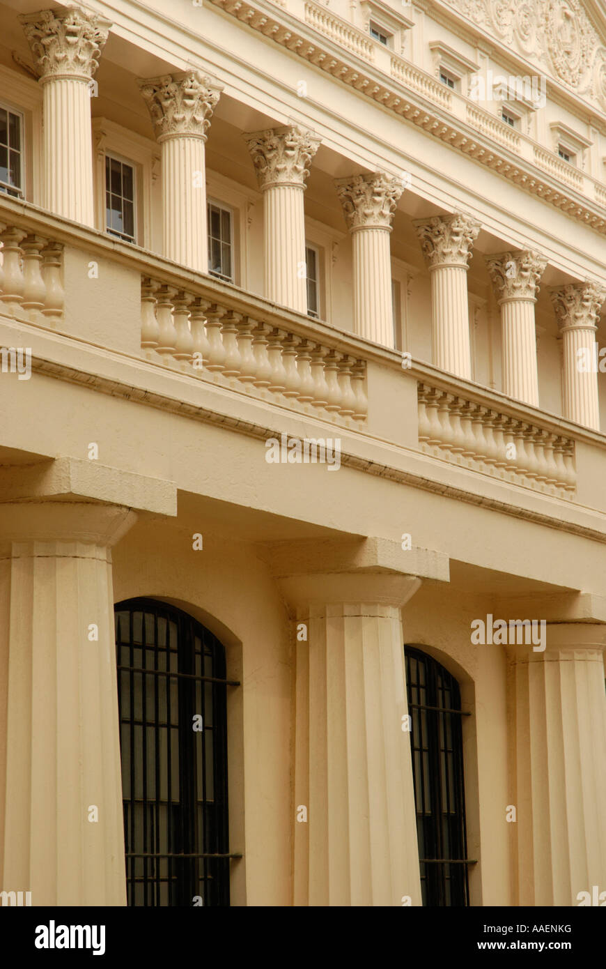
[[[572,439],[427,384],[419,383],[417,392],[425,453],[533,490],[574,496]]]

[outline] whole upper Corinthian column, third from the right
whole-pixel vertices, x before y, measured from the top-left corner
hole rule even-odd
[[[432,278],[434,363],[457,377],[471,377],[468,268],[480,223],[470,215],[419,219],[414,223]]]

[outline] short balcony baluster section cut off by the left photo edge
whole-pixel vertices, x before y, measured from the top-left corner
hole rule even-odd
[[[63,245],[0,224],[0,313],[27,323],[63,316]]]

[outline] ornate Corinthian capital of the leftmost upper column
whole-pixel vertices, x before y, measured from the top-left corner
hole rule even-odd
[[[105,16],[66,7],[22,14],[19,21],[41,80],[93,77],[111,26]]]

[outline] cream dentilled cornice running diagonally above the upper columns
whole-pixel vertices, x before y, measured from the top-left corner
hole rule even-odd
[[[580,193],[570,192],[555,178],[533,166],[526,159],[522,159],[494,141],[483,138],[477,130],[470,127],[461,119],[442,110],[431,100],[434,93],[436,100],[448,104],[447,91],[433,91],[434,78],[410,65],[413,72],[426,79],[429,96],[418,92],[404,90],[404,85],[375,69],[361,57],[344,49],[324,36],[318,37],[318,31],[310,27],[287,11],[271,5],[271,9],[263,0],[207,0],[222,10],[227,16],[233,16],[246,24],[252,30],[258,31],[264,37],[276,44],[286,47],[291,53],[318,67],[320,70],[342,80],[349,87],[353,87],[360,94],[376,101],[381,107],[393,111],[394,114],[405,117],[428,134],[440,141],[458,148],[464,154],[470,155],[475,161],[487,168],[493,169],[503,177],[515,182],[530,194],[538,196],[560,208],[571,218],[590,226],[595,232],[606,234],[606,209],[599,203],[591,203]],[[341,19],[341,18],[337,18]],[[351,27],[350,24],[348,24]],[[354,29],[355,28],[351,28]],[[392,57],[392,63],[403,69],[408,63],[398,55]],[[535,152],[540,153],[539,146]],[[543,149],[544,150],[544,149]],[[557,162],[558,159],[555,159]],[[606,197],[606,193],[605,193]]]

